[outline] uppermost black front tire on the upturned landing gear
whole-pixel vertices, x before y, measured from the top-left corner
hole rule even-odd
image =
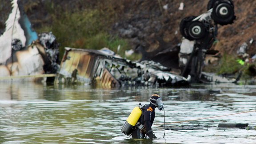
[[[234,7],[225,0],[218,0],[212,8],[212,19],[220,25],[232,24],[236,19]]]

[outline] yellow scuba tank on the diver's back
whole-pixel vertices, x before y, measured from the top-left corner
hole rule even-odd
[[[142,114],[142,110],[140,109],[140,107],[133,108],[130,116],[125,121],[125,123],[121,129],[121,131],[125,135],[129,136],[129,134],[132,133],[132,129],[137,124],[138,120],[140,119],[141,114]]]

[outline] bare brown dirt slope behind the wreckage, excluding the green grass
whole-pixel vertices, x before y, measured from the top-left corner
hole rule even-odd
[[[5,1],[0,0],[1,4],[6,4]],[[184,9],[178,10],[181,2],[184,2]],[[180,20],[206,12],[208,0],[55,0],[52,3],[48,0],[29,0],[22,1],[22,4],[35,29],[51,24],[52,19],[47,9],[49,4],[64,10],[100,8],[108,12],[112,9],[116,12],[116,18],[109,26],[109,32],[128,39],[131,48],[140,49],[151,58],[180,43]],[[234,0],[234,5],[237,17],[235,23],[219,26],[219,42],[212,46],[212,49],[221,53],[236,54],[242,43],[256,40],[256,0]],[[0,10],[2,15],[10,12],[3,5]],[[0,18],[0,32],[3,32],[3,21],[6,18]],[[250,47],[250,55],[255,54],[255,48],[256,42]]]

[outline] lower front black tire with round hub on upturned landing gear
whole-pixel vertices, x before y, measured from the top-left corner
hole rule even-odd
[[[207,33],[204,24],[200,21],[192,21],[187,25],[187,33],[188,36],[192,40],[200,40],[204,38],[205,34]]]

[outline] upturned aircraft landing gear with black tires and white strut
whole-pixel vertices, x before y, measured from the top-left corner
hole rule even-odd
[[[187,16],[180,22],[180,33],[184,36],[179,53],[181,76],[190,75],[193,83],[235,83],[240,79],[241,73],[236,79],[228,79],[202,72],[205,55],[216,40],[217,24],[232,24],[236,19],[233,1],[209,0],[207,10],[200,16]]]

